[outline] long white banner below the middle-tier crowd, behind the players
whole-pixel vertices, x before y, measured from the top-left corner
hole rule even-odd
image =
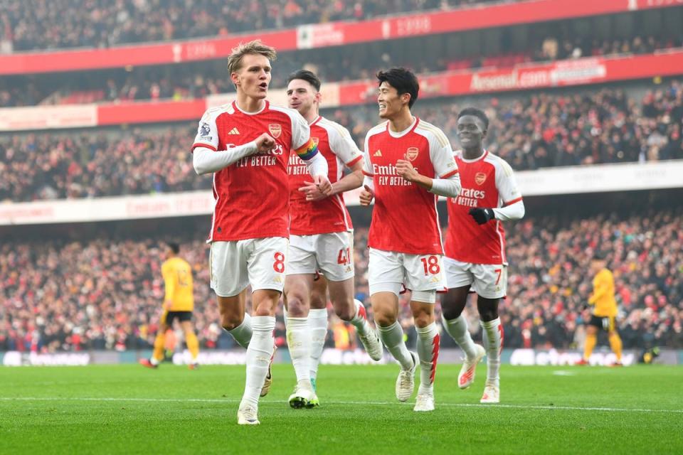
[[[683,160],[566,166],[538,171],[519,171],[515,174],[524,196],[681,188],[682,175]],[[361,188],[344,193],[346,205],[360,205],[360,193]],[[0,225],[172,218],[211,213],[213,193],[191,191],[96,199],[0,203]]]

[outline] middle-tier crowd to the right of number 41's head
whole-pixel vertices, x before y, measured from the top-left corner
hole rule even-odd
[[[652,87],[652,86],[650,86]],[[438,125],[459,149],[457,112],[468,105],[489,117],[486,147],[518,171],[552,166],[682,159],[683,85],[645,91],[582,89],[418,102],[413,109]],[[356,138],[377,123],[374,109],[335,112]],[[362,142],[359,142],[362,144]]]

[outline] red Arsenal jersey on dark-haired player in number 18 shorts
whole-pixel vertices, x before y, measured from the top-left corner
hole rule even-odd
[[[417,117],[400,133],[384,122],[368,132],[364,153],[363,172],[372,176],[375,191],[369,247],[411,255],[443,254],[438,196],[398,176],[396,161],[407,156],[420,174],[430,178],[454,175],[457,164],[445,134]]]

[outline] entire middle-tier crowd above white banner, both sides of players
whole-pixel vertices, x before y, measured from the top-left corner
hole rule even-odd
[[[441,127],[454,149],[457,112],[485,109],[487,149],[518,171],[634,161],[683,159],[683,84],[657,85],[642,95],[582,89],[462,100],[420,100],[413,112]],[[349,128],[363,148],[378,123],[373,106],[323,112]],[[0,200],[94,198],[211,188],[197,176],[189,150],[196,124],[96,133],[0,136]]]

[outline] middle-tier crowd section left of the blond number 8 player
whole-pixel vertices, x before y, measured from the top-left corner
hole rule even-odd
[[[95,198],[211,188],[192,167],[194,128],[0,138],[0,200]]]

